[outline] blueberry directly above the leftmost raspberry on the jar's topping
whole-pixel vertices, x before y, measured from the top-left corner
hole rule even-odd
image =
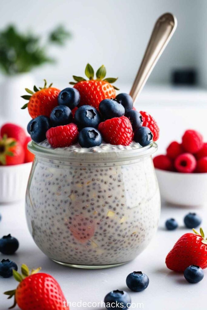
[[[66,105],[58,105],[52,110],[50,114],[50,120],[54,127],[67,125],[72,122],[72,119],[73,114],[70,108],[68,108]]]

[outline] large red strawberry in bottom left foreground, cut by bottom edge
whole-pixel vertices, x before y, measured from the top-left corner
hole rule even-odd
[[[13,276],[20,282],[16,290],[7,291],[8,299],[14,296],[16,304],[21,310],[69,310],[65,296],[57,281],[47,273],[38,273],[41,268],[32,269],[22,264],[22,275],[13,270]]]

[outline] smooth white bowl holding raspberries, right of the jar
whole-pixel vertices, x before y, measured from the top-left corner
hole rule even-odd
[[[207,173],[179,173],[155,169],[161,197],[183,206],[207,204]]]

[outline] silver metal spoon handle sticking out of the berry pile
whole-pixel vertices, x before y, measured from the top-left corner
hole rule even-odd
[[[142,88],[149,78],[155,64],[175,32],[176,27],[177,19],[171,13],[161,15],[156,21],[142,63],[129,93],[129,95],[132,96],[133,102],[135,102],[142,91]]]

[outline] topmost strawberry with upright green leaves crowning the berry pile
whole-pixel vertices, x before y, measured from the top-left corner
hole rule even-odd
[[[87,64],[85,75],[89,78],[86,81],[84,78],[73,75],[76,82],[70,82],[80,93],[79,106],[88,104],[98,109],[99,103],[104,99],[115,98],[116,90],[119,90],[111,83],[116,82],[117,78],[105,78],[106,68],[102,65],[96,72],[94,80],[94,70],[90,64]],[[104,80],[103,80],[104,79]]]

